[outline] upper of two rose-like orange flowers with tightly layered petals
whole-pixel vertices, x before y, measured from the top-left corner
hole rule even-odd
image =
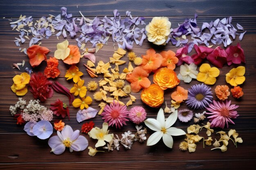
[[[153,76],[153,82],[158,84],[163,90],[173,88],[180,83],[176,73],[166,67],[160,68]]]

